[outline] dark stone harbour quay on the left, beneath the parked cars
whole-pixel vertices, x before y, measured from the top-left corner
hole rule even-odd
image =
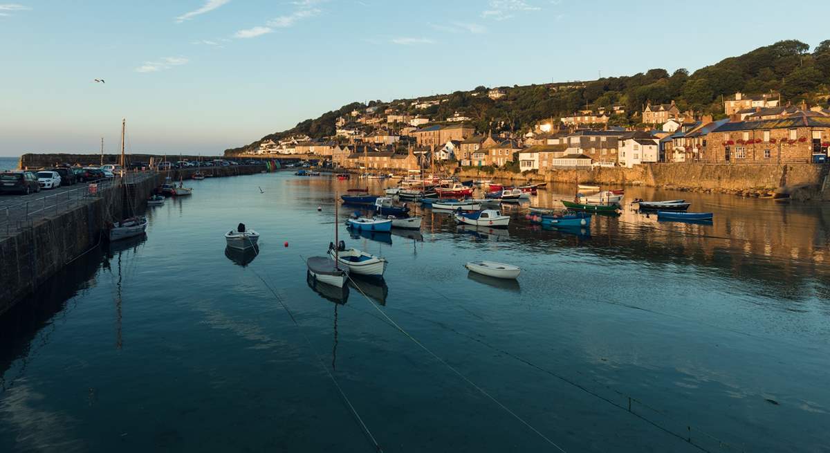
[[[34,163],[35,159],[21,162]],[[42,167],[66,161],[54,161],[52,155],[40,162],[45,163]],[[265,164],[253,164],[201,168],[201,172],[221,178],[257,174],[265,169]],[[144,211],[149,195],[165,180],[187,180],[198,170],[131,172],[32,195],[2,195],[0,314],[105,243],[108,225]]]

